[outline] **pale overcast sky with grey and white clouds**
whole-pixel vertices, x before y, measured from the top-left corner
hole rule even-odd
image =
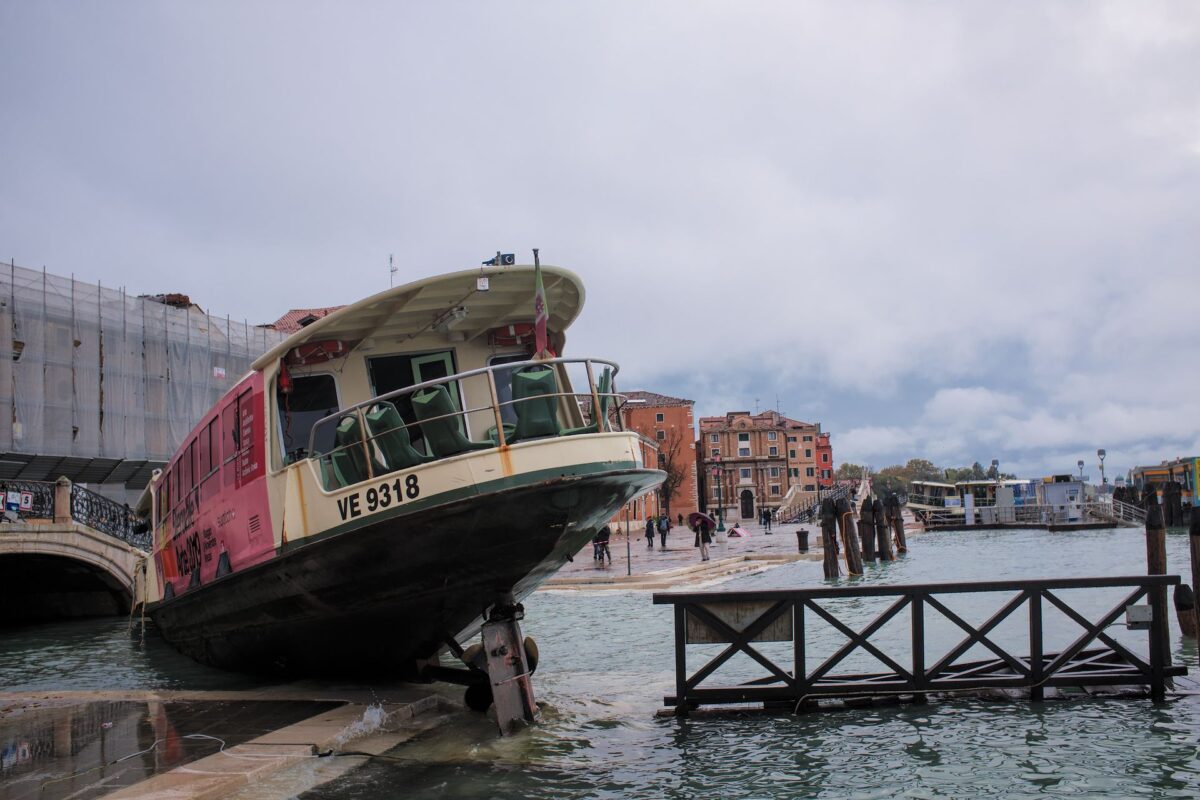
[[[269,321],[497,249],[838,462],[1200,455],[1200,4],[0,4],[0,257]]]

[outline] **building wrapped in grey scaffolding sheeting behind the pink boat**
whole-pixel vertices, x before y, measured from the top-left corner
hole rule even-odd
[[[0,481],[139,491],[275,330],[0,265]]]

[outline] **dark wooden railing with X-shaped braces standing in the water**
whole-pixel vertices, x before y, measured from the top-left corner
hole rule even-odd
[[[1187,673],[1172,666],[1168,655],[1166,587],[1177,585],[1178,576],[1134,576],[1062,578],[1044,581],[986,581],[932,583],[893,587],[838,587],[763,591],[655,594],[656,604],[674,607],[676,692],[664,698],[686,714],[704,704],[762,702],[799,704],[817,697],[961,691],[982,688],[1027,688],[1040,700],[1048,686],[1148,685],[1162,699],[1166,679]],[[1068,589],[1128,587],[1132,591],[1099,620],[1091,620],[1063,600]],[[972,625],[949,608],[946,595],[1010,593],[1000,608],[982,625]],[[874,620],[863,627],[840,619],[821,601],[868,597],[892,599]],[[1148,597],[1151,615],[1162,624],[1148,628],[1148,655],[1132,651],[1106,631],[1126,614],[1127,607]],[[860,607],[860,603],[851,603]],[[1028,652],[1012,652],[992,637],[996,627],[1026,606]],[[1048,652],[1044,640],[1044,610],[1055,608],[1076,622],[1082,633],[1066,649]],[[908,657],[893,658],[872,637],[890,620],[910,609]],[[931,613],[948,620],[965,636],[936,658],[926,658],[926,628]],[[814,663],[805,639],[809,621],[827,622],[848,638],[832,655]],[[757,642],[791,642],[792,663],[776,663],[755,648]],[[695,672],[688,669],[690,644],[726,644],[725,649]],[[991,651],[992,658],[960,663],[974,645]],[[1090,646],[1094,645],[1094,646]],[[894,648],[894,642],[888,646]],[[875,656],[888,672],[838,673],[834,669],[853,652]],[[709,678],[734,655],[743,652],[767,674],[737,685],[710,685]]]

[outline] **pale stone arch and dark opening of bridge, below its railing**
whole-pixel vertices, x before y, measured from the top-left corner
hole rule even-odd
[[[0,626],[128,613],[145,553],[78,523],[0,525]]]

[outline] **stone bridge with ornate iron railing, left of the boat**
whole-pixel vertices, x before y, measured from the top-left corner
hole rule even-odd
[[[146,558],[130,543],[142,542],[128,509],[68,481],[47,486],[20,518],[0,522],[0,626],[128,613]]]

